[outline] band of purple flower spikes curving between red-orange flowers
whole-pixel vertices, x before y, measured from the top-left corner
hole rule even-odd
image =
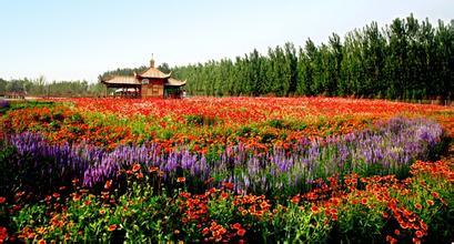
[[[364,130],[326,139],[301,139],[292,149],[273,146],[261,152],[243,144],[228,146],[219,154],[191,152],[181,145],[167,152],[157,143],[123,145],[107,151],[89,144],[52,144],[34,133],[12,135],[8,143],[17,156],[10,156],[10,169],[26,174],[38,172],[36,181],[78,177],[84,186],[94,187],[111,180],[119,170],[140,163],[157,167],[164,180],[179,176],[198,183],[214,180],[231,182],[238,192],[272,195],[307,190],[312,181],[333,174],[405,175],[412,162],[428,159],[442,141],[442,128],[422,119],[393,119],[377,130]],[[47,162],[48,163],[43,163]],[[50,182],[49,182],[50,184]],[[42,182],[42,185],[46,185]]]

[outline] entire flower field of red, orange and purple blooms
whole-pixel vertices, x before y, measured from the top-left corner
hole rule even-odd
[[[3,103],[0,242],[454,241],[450,106]]]

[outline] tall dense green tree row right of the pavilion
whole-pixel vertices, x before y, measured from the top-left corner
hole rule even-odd
[[[333,33],[327,43],[253,50],[234,60],[172,68],[195,95],[339,95],[447,99],[454,91],[454,20],[434,27],[411,14]]]

